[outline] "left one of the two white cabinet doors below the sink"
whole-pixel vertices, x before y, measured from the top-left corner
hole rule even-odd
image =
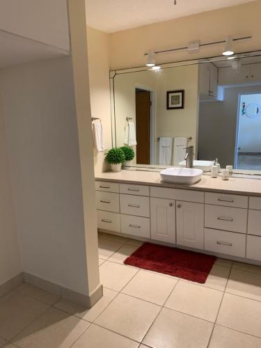
[[[151,238],[175,244],[175,200],[150,198]]]

